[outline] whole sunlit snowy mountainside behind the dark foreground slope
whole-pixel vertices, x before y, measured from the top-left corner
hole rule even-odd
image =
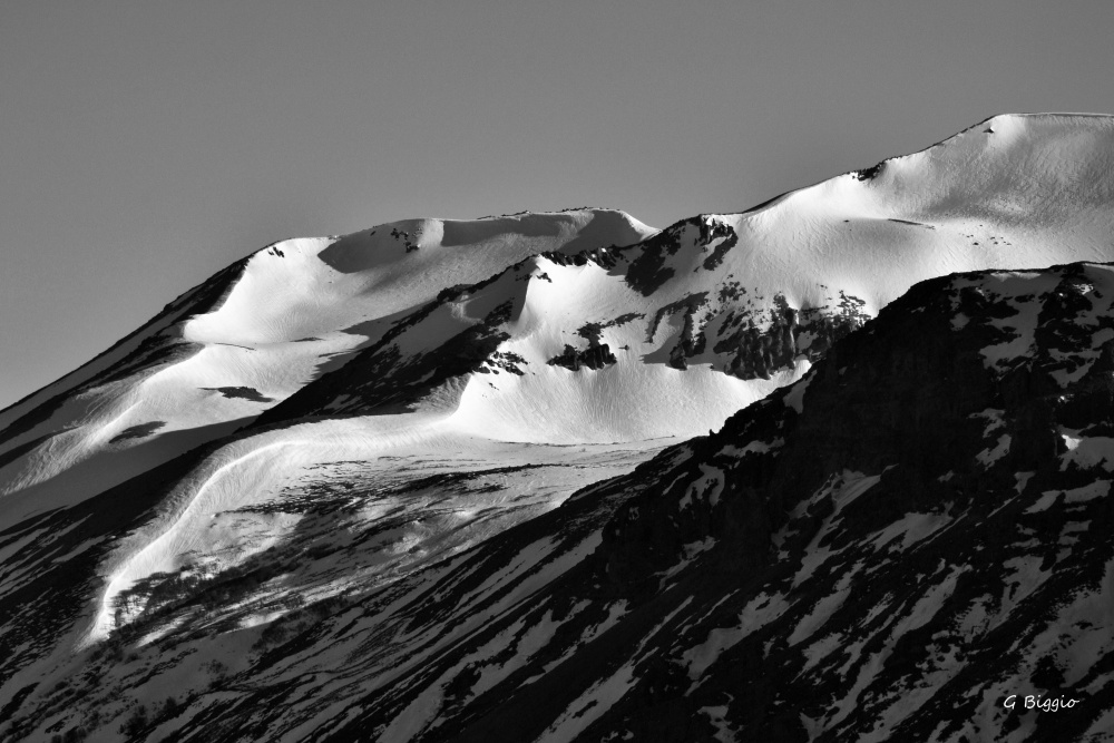
[[[1004,116],[664,231],[578,209],[264,248],[0,412],[0,724],[120,735],[303,604],[421,585],[720,428],[918,281],[1114,260],[1112,196],[1114,119]],[[156,642],[198,652],[96,724],[49,701]]]

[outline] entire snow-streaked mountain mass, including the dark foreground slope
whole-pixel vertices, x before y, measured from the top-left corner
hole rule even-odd
[[[1005,116],[264,248],[0,413],[0,736],[1106,734],[1114,278],[1033,270],[1112,196],[1114,118]]]

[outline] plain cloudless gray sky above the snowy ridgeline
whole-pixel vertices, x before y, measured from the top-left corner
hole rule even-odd
[[[0,0],[0,408],[282,237],[741,211],[1114,113],[1114,3]]]

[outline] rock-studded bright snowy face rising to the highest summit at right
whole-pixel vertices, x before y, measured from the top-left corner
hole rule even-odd
[[[446,291],[263,421],[436,398],[516,440],[700,433],[917,281],[1114,257],[1111,121],[998,117],[749,213],[534,256]]]

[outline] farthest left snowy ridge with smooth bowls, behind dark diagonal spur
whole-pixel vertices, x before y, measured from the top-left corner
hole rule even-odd
[[[583,209],[275,243],[0,413],[0,493],[40,509],[95,495],[251,422],[448,286],[653,232]]]

